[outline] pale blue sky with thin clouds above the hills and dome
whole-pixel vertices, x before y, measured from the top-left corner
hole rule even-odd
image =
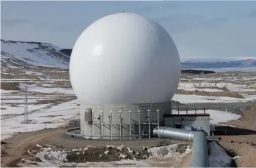
[[[256,1],[1,1],[1,39],[72,49],[92,22],[122,11],[162,25],[181,59],[256,58]]]

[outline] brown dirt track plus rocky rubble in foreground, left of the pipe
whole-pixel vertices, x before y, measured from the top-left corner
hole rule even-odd
[[[65,162],[111,162],[127,159],[146,160],[151,156],[151,152],[148,150],[150,148],[179,143],[174,152],[181,155],[186,152],[186,148],[190,145],[189,143],[163,139],[145,141],[76,141],[72,138],[63,137],[67,130],[44,129],[17,134],[6,141],[2,141],[6,144],[2,144],[4,150],[2,150],[3,153],[1,155],[1,166],[16,167],[20,163],[25,163],[25,160],[27,160],[28,165],[30,165],[30,161],[35,162],[34,160],[37,162],[43,162],[42,160],[44,160],[44,163],[47,160],[51,160],[55,164],[63,164]],[[20,139],[23,139],[23,141],[20,141]],[[63,160],[60,159],[62,157]],[[44,164],[44,166],[47,166],[47,164]]]

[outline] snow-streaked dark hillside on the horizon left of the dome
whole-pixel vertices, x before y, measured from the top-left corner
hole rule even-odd
[[[52,44],[1,39],[1,66],[68,68],[70,56]]]

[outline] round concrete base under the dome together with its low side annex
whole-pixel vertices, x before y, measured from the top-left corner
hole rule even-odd
[[[172,105],[81,105],[81,135],[90,139],[132,140],[151,138],[155,127],[202,129],[210,135],[209,114],[172,115]]]

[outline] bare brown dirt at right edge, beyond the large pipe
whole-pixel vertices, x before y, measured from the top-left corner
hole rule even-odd
[[[226,131],[226,136],[219,136],[224,148],[233,150],[238,157],[238,167],[256,166],[256,103],[243,111],[243,115],[236,121],[223,122],[241,128],[236,131]]]

